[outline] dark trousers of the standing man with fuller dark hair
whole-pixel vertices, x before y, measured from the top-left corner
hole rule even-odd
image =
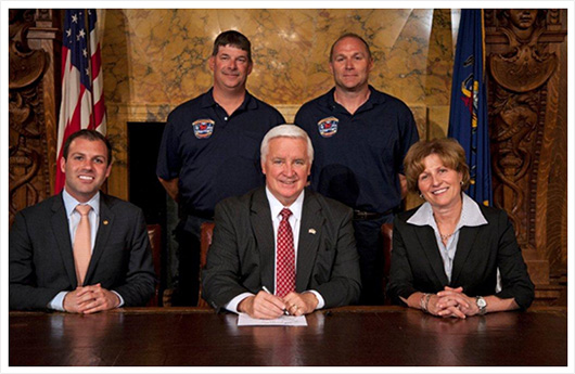
[[[187,216],[183,217],[174,235],[178,242],[178,275],[175,281],[173,306],[197,306],[200,292],[200,232],[202,223],[209,220]]]

